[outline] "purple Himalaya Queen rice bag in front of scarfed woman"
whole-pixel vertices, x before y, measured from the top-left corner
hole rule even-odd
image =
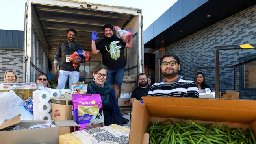
[[[102,113],[102,101],[100,94],[72,94],[74,121],[80,127],[74,127],[74,131],[87,129],[91,118]]]

